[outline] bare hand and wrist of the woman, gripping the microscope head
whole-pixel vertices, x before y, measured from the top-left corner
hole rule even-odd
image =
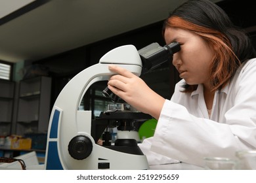
[[[130,71],[116,65],[110,65],[109,69],[117,75],[110,77],[108,88],[140,112],[158,120],[165,99]]]

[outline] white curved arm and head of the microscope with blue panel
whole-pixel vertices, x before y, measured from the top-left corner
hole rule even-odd
[[[46,169],[98,169],[97,165],[102,165],[98,164],[100,163],[98,158],[109,159],[112,162],[112,168],[117,169],[119,165],[118,161],[114,161],[116,157],[121,160],[134,156],[108,150],[96,144],[91,136],[91,111],[79,110],[81,98],[88,88],[93,83],[108,80],[114,75],[108,69],[109,64],[124,67],[138,76],[142,70],[141,59],[135,46],[125,45],[111,50],[100,59],[99,63],[81,71],[66,84],[58,95],[51,112],[45,156]],[[79,139],[80,137],[83,139]],[[72,156],[68,149],[73,139],[75,139],[73,143],[75,148],[80,148],[88,141],[90,152],[86,152],[86,156],[83,156],[83,153]],[[88,146],[85,144],[85,147]],[[74,158],[75,156],[77,158]],[[145,162],[141,156],[136,156],[135,159]],[[142,169],[147,169],[147,166],[141,163]],[[123,168],[136,169],[135,167]]]

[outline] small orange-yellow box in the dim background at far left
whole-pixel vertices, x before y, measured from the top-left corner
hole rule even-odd
[[[16,150],[25,150],[25,149],[31,149],[32,146],[32,139],[30,138],[19,138],[14,137],[11,140],[11,149]]]

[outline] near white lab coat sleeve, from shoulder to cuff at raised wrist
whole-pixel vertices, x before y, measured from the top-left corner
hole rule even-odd
[[[232,88],[234,105],[215,122],[190,114],[165,100],[150,150],[203,167],[205,157],[235,158],[238,150],[256,148],[256,60],[238,76]]]

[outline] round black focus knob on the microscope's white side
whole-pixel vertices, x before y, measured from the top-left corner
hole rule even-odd
[[[84,135],[75,136],[68,144],[68,152],[74,159],[85,159],[93,150],[91,139]]]

